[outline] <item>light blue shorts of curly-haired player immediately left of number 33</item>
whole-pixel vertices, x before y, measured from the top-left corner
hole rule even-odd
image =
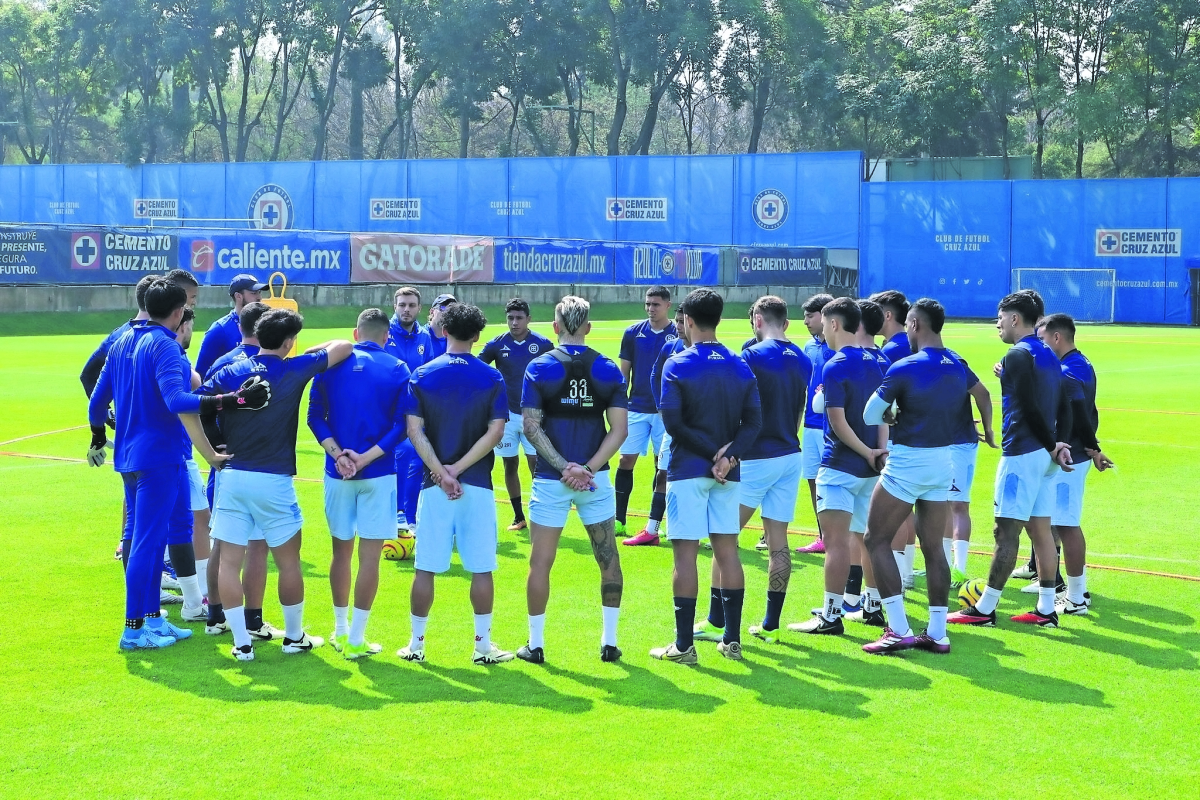
[[[463,485],[451,500],[436,486],[416,500],[416,569],[445,572],[458,551],[467,572],[496,572],[496,500],[491,489]]]

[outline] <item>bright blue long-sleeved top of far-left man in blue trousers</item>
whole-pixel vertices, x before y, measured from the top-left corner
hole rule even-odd
[[[162,325],[132,323],[113,343],[88,402],[88,420],[104,425],[113,404],[118,473],[184,462],[191,444],[179,415],[200,411],[191,386],[192,366],[175,333]]]

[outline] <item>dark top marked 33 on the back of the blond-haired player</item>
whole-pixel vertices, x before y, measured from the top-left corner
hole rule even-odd
[[[582,344],[559,350],[582,361],[583,374],[568,375],[569,365],[552,353],[538,356],[526,369],[521,408],[541,409],[541,429],[554,450],[569,462],[586,464],[608,435],[605,411],[628,407],[625,378],[612,359]],[[606,469],[608,464],[600,471]],[[535,474],[556,481],[563,476],[541,456]]]

